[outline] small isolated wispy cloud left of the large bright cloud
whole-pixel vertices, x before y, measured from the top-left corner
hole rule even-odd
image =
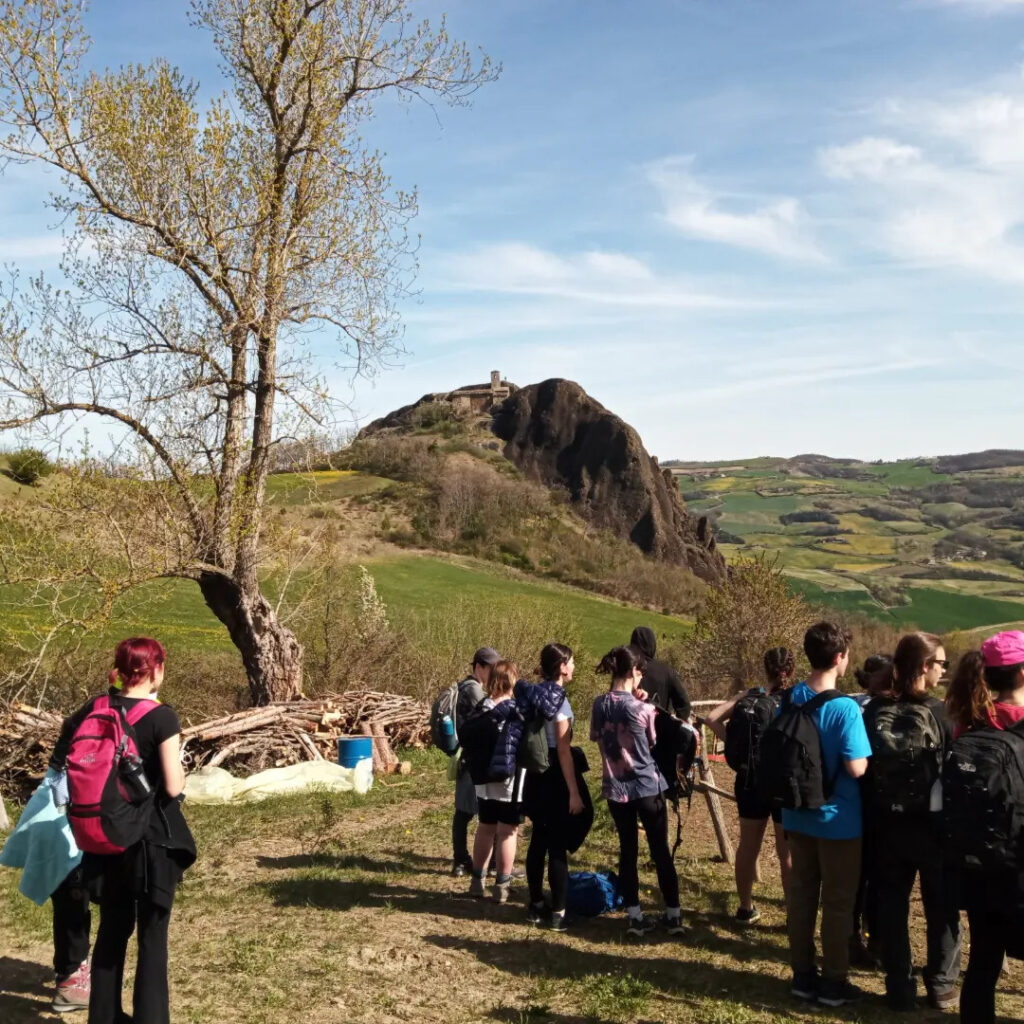
[[[690,238],[782,259],[824,260],[810,220],[797,200],[776,198],[744,210],[742,207],[752,205],[749,200],[712,190],[692,175],[691,164],[690,158],[677,157],[647,167],[649,179],[662,194],[665,218],[674,227]]]

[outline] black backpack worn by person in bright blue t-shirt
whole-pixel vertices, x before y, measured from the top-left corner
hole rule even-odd
[[[836,778],[826,775],[821,736],[811,716],[841,697],[850,699],[825,690],[807,703],[795,705],[792,690],[782,695],[779,713],[762,734],[758,750],[757,791],[772,808],[814,811],[828,802]]]

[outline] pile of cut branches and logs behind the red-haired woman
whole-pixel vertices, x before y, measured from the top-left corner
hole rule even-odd
[[[375,772],[409,771],[397,746],[426,746],[429,708],[412,697],[352,690],[250,708],[181,730],[187,771],[206,765],[249,775],[300,761],[336,761],[342,736],[373,737]],[[0,702],[0,792],[25,797],[46,771],[62,719],[23,703]]]

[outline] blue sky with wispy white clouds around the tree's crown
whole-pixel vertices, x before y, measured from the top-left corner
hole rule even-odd
[[[362,422],[427,391],[579,381],[663,459],[1020,446],[1024,0],[450,0],[504,65],[386,104],[419,295]],[[98,0],[93,58],[219,85],[183,4]],[[38,171],[0,258],[46,268]]]

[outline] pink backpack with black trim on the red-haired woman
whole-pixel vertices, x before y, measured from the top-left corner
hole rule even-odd
[[[150,827],[153,792],[142,774],[133,726],[160,703],[128,711],[97,697],[68,749],[68,820],[85,853],[124,853]]]

